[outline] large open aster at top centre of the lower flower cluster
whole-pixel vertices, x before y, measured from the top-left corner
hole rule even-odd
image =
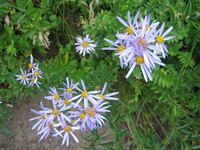
[[[82,84],[83,90],[77,87],[77,90],[81,92],[81,94],[71,99],[71,100],[78,99],[74,107],[76,108],[81,103],[82,100],[84,101],[84,105],[87,105],[89,102],[91,102],[92,104],[97,104],[97,101],[94,99],[94,94],[99,93],[99,91],[87,91],[83,80],[81,80],[81,84]]]

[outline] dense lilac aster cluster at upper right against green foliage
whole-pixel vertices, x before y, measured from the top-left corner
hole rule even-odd
[[[151,72],[156,64],[165,66],[161,60],[166,58],[168,53],[165,42],[175,36],[168,36],[173,27],[164,31],[165,23],[159,28],[160,22],[151,22],[150,15],[144,18],[139,15],[138,11],[133,19],[128,11],[128,22],[117,17],[126,29],[123,33],[116,34],[116,41],[105,39],[112,47],[104,47],[102,50],[115,51],[115,55],[120,59],[121,68],[129,68],[126,78],[131,75],[136,65],[139,65],[145,81],[148,82],[153,80]]]

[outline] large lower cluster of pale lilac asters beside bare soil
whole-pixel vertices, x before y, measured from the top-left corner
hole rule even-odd
[[[79,83],[68,77],[63,84],[63,88],[51,87],[50,95],[44,97],[52,103],[52,108],[44,107],[41,102],[39,111],[31,109],[38,116],[30,121],[36,121],[32,129],[36,129],[37,135],[41,136],[39,141],[52,135],[62,138],[62,145],[68,146],[70,137],[79,143],[75,131],[92,131],[105,124],[105,114],[110,112],[108,108],[111,107],[108,100],[118,100],[114,97],[118,92],[107,94],[107,83],[102,90],[89,91],[83,80],[79,88]]]

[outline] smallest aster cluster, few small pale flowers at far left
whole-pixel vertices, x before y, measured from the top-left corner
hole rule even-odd
[[[30,55],[30,62],[28,64],[27,70],[21,70],[20,75],[15,75],[17,80],[20,81],[21,84],[26,86],[36,85],[38,88],[40,87],[39,79],[42,79],[42,71],[39,69],[39,64],[33,62],[33,56]]]

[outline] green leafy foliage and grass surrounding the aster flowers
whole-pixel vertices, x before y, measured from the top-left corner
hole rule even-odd
[[[70,11],[69,11],[70,10]],[[156,67],[153,82],[144,82],[136,67],[129,79],[103,38],[115,40],[124,27],[116,16],[126,18],[140,10],[152,19],[173,26],[175,39],[168,42],[166,67]],[[89,88],[109,83],[120,92],[120,101],[112,102],[108,123],[113,136],[97,131],[85,139],[85,149],[102,146],[111,150],[191,150],[200,148],[200,4],[198,0],[15,0],[0,2],[0,133],[9,131],[4,121],[12,118],[7,104],[50,86],[59,87],[66,76],[84,79]],[[9,16],[9,25],[5,16]],[[81,57],[75,53],[76,35],[90,34],[97,41],[96,53]],[[50,48],[34,36],[49,32]],[[27,88],[15,79],[33,54],[44,72],[40,89]]]

